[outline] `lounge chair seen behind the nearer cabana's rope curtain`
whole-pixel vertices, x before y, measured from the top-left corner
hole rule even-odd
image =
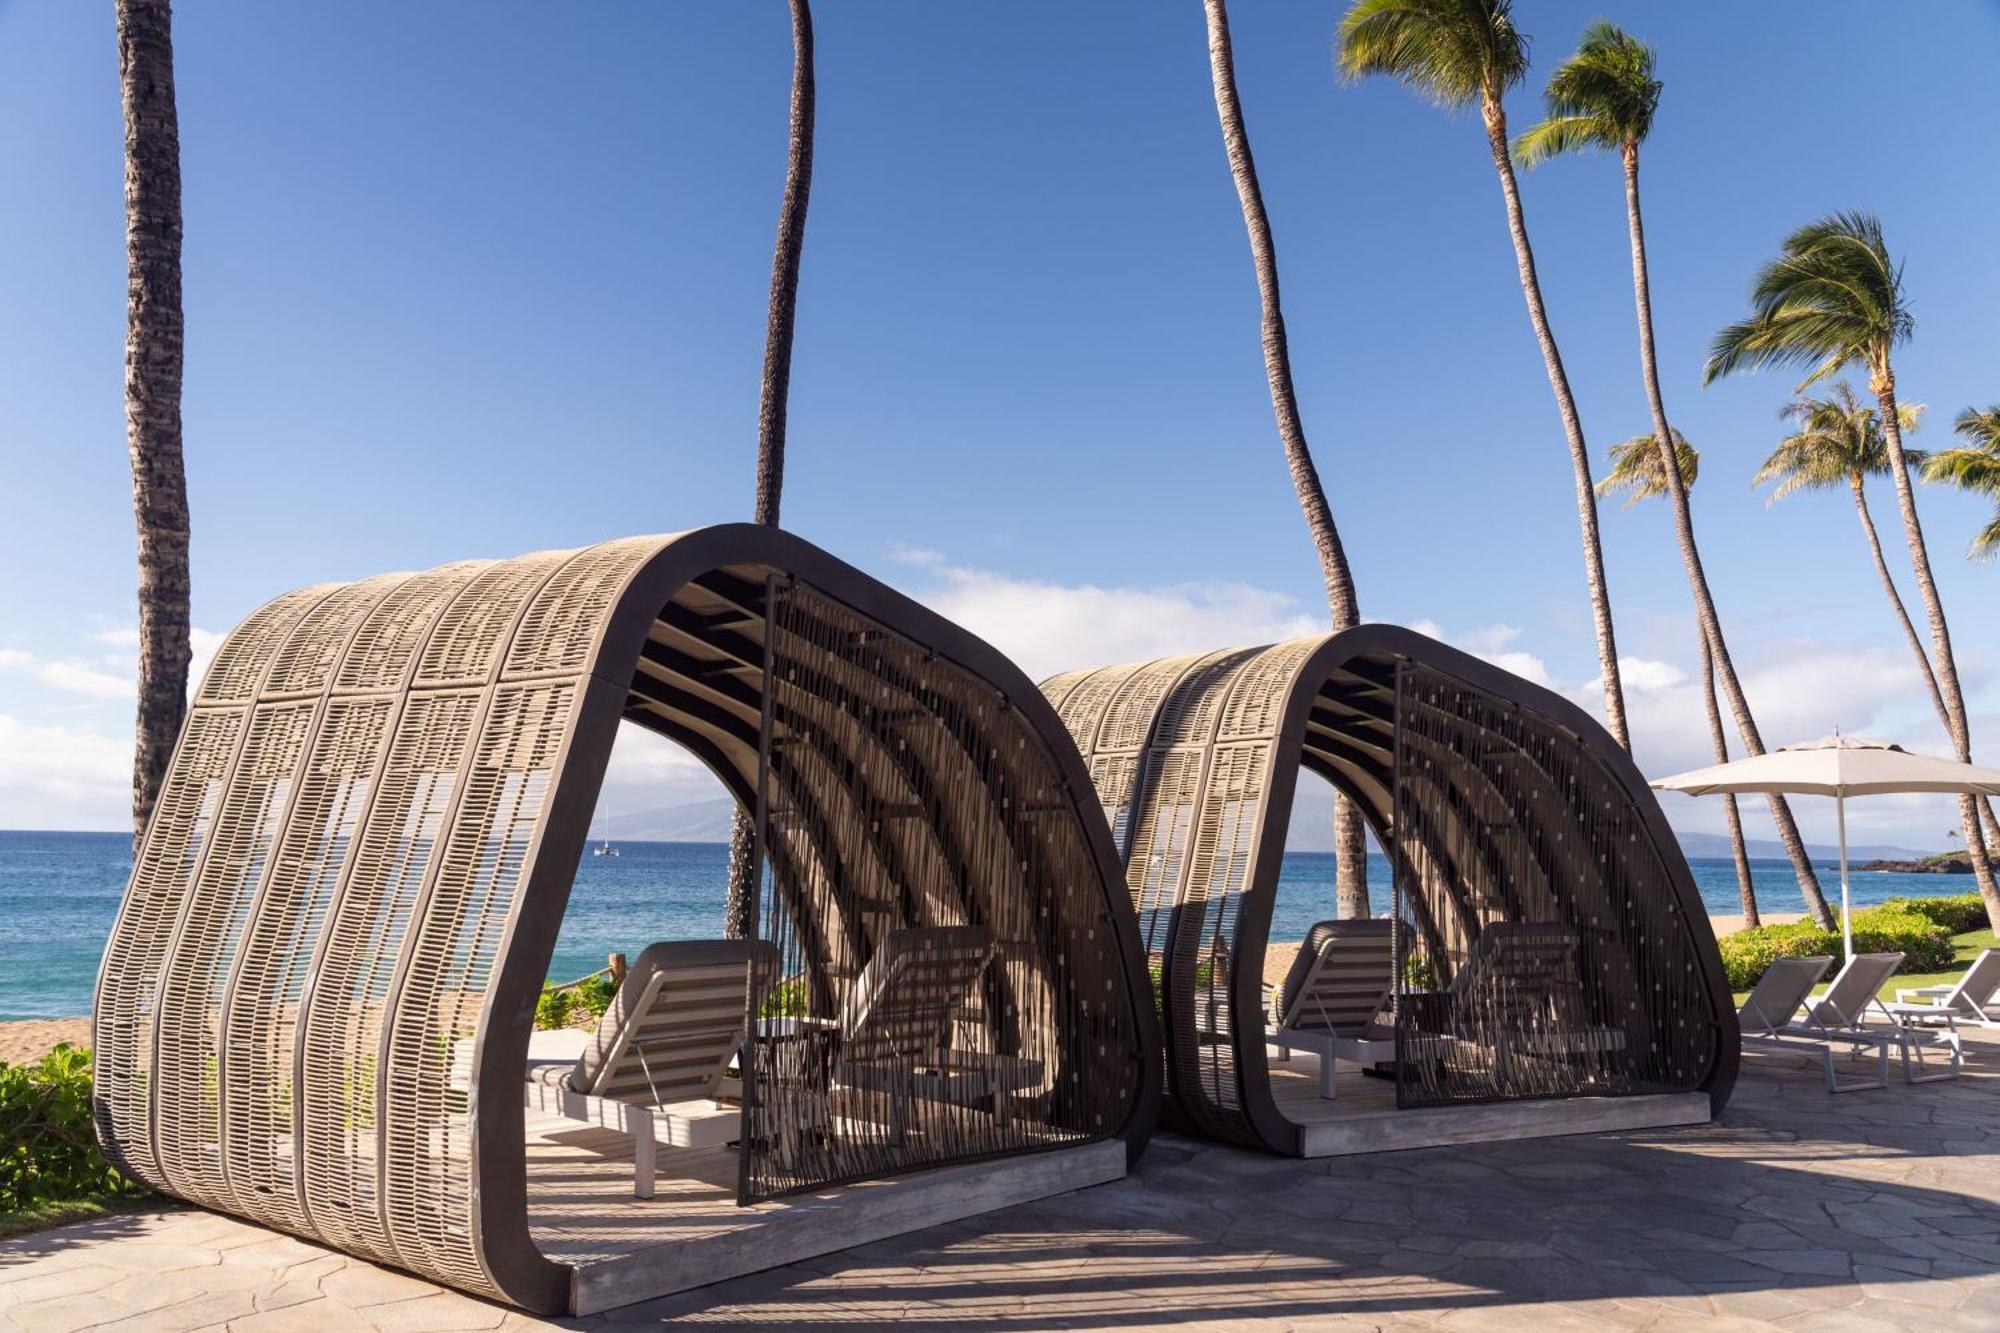
[[[990,1101],[994,1121],[1006,1125],[1012,1095],[1042,1081],[1042,1061],[952,1049],[958,1015],[992,959],[980,927],[890,931],[854,979],[840,1011],[834,1081],[884,1093],[894,1141],[916,1101]]]

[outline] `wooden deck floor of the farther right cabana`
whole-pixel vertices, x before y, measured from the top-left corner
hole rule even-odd
[[[1328,1101],[1320,1097],[1318,1059],[1298,1051],[1288,1063],[1272,1059],[1270,1091],[1278,1111],[1302,1129],[1304,1157],[1708,1123],[1708,1093],[1570,1097],[1398,1111],[1396,1085],[1388,1079],[1370,1079],[1354,1065],[1342,1065],[1334,1075],[1338,1095]]]

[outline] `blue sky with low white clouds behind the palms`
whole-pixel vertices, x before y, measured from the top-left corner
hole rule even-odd
[[[1696,520],[1768,739],[1842,725],[1936,747],[1844,496],[1766,510],[1748,490],[1790,378],[1702,390],[1698,368],[1786,230],[1872,208],[1908,260],[1900,382],[1934,406],[1922,440],[2000,400],[2000,10],[1524,2],[1516,126],[1598,14],[1660,48],[1644,184],[1668,410],[1704,450]],[[1364,614],[1588,699],[1568,460],[1478,122],[1338,86],[1336,6],[1234,18]],[[176,28],[198,626],[310,580],[748,512],[782,4],[212,2]],[[1200,6],[844,0],[818,38],[786,524],[1032,673],[1318,622]],[[0,827],[120,827],[110,6],[0,4]],[[1602,458],[1646,428],[1616,164],[1524,188]],[[1984,508],[1922,504],[1976,741],[1994,737],[2000,568],[1960,558]],[[1892,530],[1886,490],[1878,520]],[[1640,761],[1700,763],[1668,516],[1606,508],[1604,530]],[[708,791],[670,757],[618,773],[626,805]],[[1856,811],[1862,835],[1914,843],[1950,823],[1936,803]]]

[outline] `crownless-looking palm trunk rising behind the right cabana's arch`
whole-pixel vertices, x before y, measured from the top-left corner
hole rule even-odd
[[[1284,334],[1284,306],[1278,300],[1278,252],[1270,238],[1270,216],[1264,212],[1264,190],[1256,178],[1256,158],[1250,156],[1250,134],[1244,130],[1244,108],[1236,96],[1236,58],[1230,50],[1230,14],[1224,0],[1204,0],[1208,14],[1208,76],[1216,92],[1216,120],[1222,124],[1222,148],[1242,204],[1244,230],[1250,234],[1250,264],[1256,268],[1256,290],[1264,306],[1264,378],[1270,382],[1270,406],[1278,416],[1278,442],[1292,472],[1298,508],[1306,514],[1306,530],[1320,554],[1320,578],[1326,584],[1326,606],[1334,628],[1360,622],[1354,598],[1354,574],[1348,552],[1334,526],[1334,510],[1320,486],[1320,470],[1306,444],[1306,424],[1298,416],[1298,394],[1292,388],[1292,348]],[[1334,793],[1334,901],[1340,917],[1368,915],[1368,843],[1362,817],[1352,801]]]

